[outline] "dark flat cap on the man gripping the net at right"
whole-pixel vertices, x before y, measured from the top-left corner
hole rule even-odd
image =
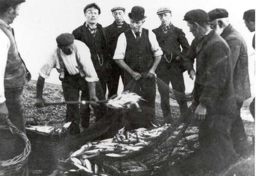
[[[209,16],[207,12],[202,9],[194,9],[186,12],[183,20],[197,22],[197,23],[201,23],[201,22],[209,23]]]

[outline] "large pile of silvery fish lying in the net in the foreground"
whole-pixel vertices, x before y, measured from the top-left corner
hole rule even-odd
[[[163,126],[154,125],[155,128],[151,130],[138,128],[131,132],[125,131],[125,128],[122,128],[113,138],[99,142],[88,142],[81,146],[79,150],[71,153],[68,159],[60,161],[61,165],[67,170],[64,174],[68,176],[71,173],[80,174],[84,172],[95,176],[105,176],[107,174],[104,169],[99,168],[96,163],[93,163],[94,157],[100,155],[122,157],[133,151],[140,150],[148,145],[150,140],[163,133],[169,126],[170,124]]]

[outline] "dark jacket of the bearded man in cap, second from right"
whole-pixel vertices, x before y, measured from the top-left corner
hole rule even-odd
[[[237,102],[242,102],[251,97],[247,46],[241,34],[231,25],[224,29],[221,37],[226,40],[230,47],[236,100]]]

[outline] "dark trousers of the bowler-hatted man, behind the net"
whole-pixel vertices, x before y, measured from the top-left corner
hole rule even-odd
[[[126,78],[125,78],[126,79]],[[136,110],[128,111],[125,118],[128,120],[126,125],[127,129],[137,129],[141,127],[148,128],[151,122],[155,119],[155,98],[156,98],[156,85],[154,78],[141,78],[137,81],[135,79],[125,81],[124,91],[129,90],[141,96],[145,101],[140,101],[141,112]]]

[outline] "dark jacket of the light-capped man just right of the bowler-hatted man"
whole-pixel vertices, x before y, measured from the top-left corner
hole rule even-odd
[[[157,67],[158,70],[160,69],[164,71],[170,64],[173,66],[180,66],[181,61],[177,61],[175,58],[177,56],[183,58],[183,55],[189,50],[189,43],[182,29],[171,25],[167,34],[163,34],[161,26],[152,31],[156,34],[157,42],[163,51],[162,59]],[[182,51],[180,46],[182,47]],[[171,60],[171,62],[167,62],[166,59]]]

